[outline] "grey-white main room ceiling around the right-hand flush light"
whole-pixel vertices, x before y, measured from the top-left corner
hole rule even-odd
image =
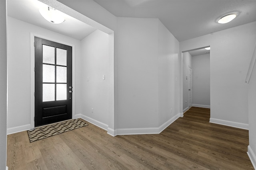
[[[117,17],[159,18],[178,39],[199,37],[256,21],[256,0],[94,0]],[[230,23],[217,20],[230,13]]]

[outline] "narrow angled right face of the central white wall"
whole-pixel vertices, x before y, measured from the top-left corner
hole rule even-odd
[[[178,53],[178,40],[158,20],[158,127],[179,113]]]

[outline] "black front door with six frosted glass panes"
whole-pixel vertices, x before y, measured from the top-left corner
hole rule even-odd
[[[35,37],[35,127],[72,119],[72,47]]]

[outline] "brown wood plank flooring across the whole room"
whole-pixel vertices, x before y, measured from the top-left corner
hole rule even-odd
[[[248,131],[209,123],[192,107],[162,133],[112,137],[90,124],[29,143],[8,135],[9,170],[253,170]]]

